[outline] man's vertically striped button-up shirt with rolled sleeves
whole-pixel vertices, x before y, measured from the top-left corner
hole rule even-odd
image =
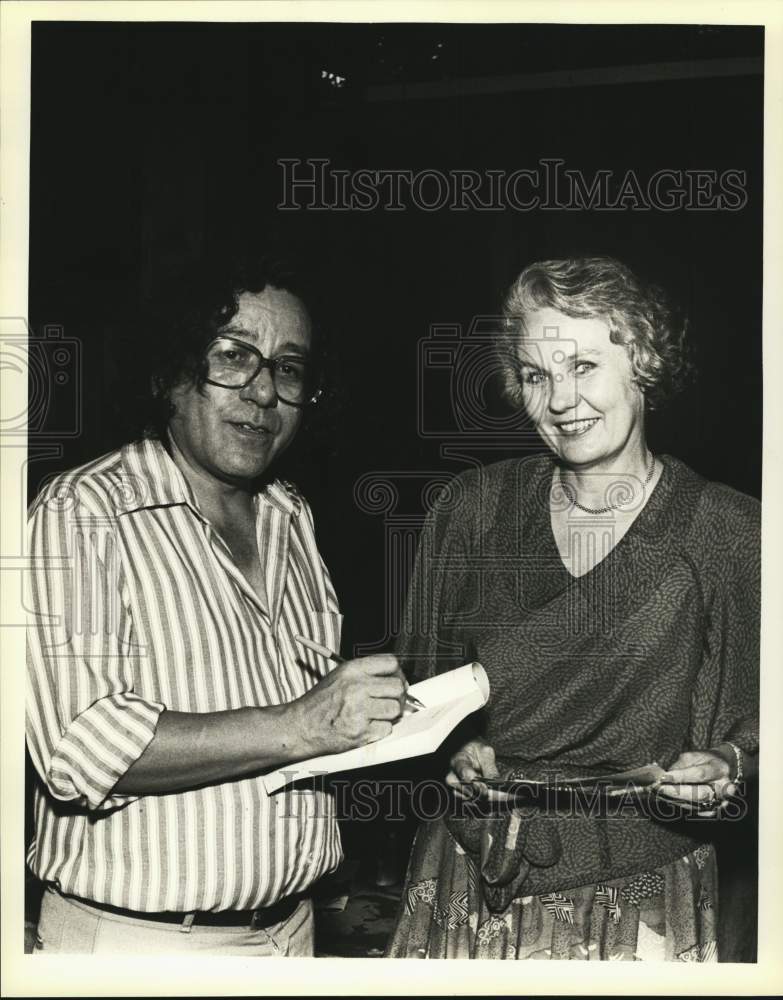
[[[58,476],[32,504],[27,738],[42,784],[28,863],[66,893],[146,912],[251,909],[341,860],[324,791],[269,796],[253,777],[113,792],[165,709],[279,705],[328,669],[293,638],[339,647],[310,509],[279,480],[255,508],[268,608],[158,441]]]

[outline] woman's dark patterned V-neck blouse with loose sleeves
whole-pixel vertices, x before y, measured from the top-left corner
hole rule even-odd
[[[399,652],[417,679],[484,665],[490,700],[473,721],[501,771],[668,767],[727,740],[757,752],[760,505],[662,462],[631,528],[582,576],[552,534],[549,457],[463,473],[430,514]],[[575,513],[605,544],[611,518]],[[703,841],[680,812],[586,813],[525,820],[520,893],[654,869]]]

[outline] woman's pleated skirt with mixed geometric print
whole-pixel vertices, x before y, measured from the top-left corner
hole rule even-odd
[[[475,864],[443,822],[416,835],[389,958],[717,961],[710,845],[662,868],[487,909]]]

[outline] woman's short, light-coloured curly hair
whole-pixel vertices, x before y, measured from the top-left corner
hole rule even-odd
[[[653,410],[689,380],[693,366],[686,345],[687,319],[666,294],[643,283],[612,257],[543,260],[526,267],[503,304],[506,319],[498,343],[504,391],[515,406],[522,403],[514,341],[525,315],[542,308],[575,318],[600,318],[616,344],[628,350],[634,377]]]

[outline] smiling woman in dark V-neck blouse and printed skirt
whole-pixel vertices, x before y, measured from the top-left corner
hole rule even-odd
[[[731,809],[758,751],[759,504],[647,445],[684,373],[656,289],[609,258],[544,261],[504,311],[507,394],[552,454],[464,473],[436,505],[401,653],[421,676],[489,675],[457,791],[666,775],[622,808],[424,824],[389,955],[714,960],[714,819],[694,816]]]

